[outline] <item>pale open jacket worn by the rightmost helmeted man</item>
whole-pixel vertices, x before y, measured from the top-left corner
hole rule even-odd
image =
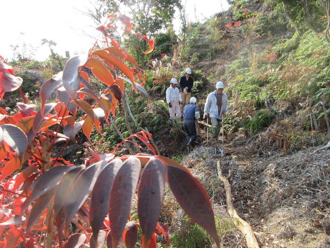
[[[204,106],[204,112],[209,112],[210,117],[220,119],[222,120],[222,110],[225,110],[225,113],[227,114],[227,111],[229,109],[229,104],[228,104],[228,97],[225,93],[222,93],[222,106],[221,106],[221,111],[220,111],[220,116],[218,112],[218,106],[216,105],[216,90],[214,92],[210,93],[207,98],[206,98],[206,103]]]

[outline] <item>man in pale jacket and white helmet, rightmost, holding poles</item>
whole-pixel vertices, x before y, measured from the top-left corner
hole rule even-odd
[[[221,81],[217,82],[215,85],[214,92],[210,93],[205,102],[203,119],[211,118],[212,123],[212,138],[216,139],[218,137],[222,118],[228,115],[229,104],[228,97],[223,93],[224,85]]]

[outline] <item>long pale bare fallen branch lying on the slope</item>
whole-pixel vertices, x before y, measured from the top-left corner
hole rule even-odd
[[[259,248],[258,241],[253,233],[253,230],[251,226],[243,219],[241,219],[238,216],[238,213],[236,210],[234,210],[234,207],[232,206],[232,195],[231,195],[231,184],[229,183],[229,179],[231,178],[231,171],[229,171],[227,177],[222,176],[221,172],[221,161],[218,160],[217,162],[217,168],[218,168],[218,177],[223,182],[225,186],[226,191],[226,204],[227,204],[227,211],[231,218],[234,219],[234,225],[244,234],[246,241],[247,241],[247,247],[248,248]]]

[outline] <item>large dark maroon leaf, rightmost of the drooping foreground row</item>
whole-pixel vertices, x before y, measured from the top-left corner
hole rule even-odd
[[[167,166],[168,184],[182,209],[220,246],[210,198],[202,184],[188,170]]]

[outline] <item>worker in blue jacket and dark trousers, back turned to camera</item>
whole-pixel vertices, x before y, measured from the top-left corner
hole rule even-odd
[[[187,132],[187,146],[193,147],[193,142],[197,140],[197,131],[195,126],[195,119],[199,119],[199,110],[196,106],[196,98],[192,97],[189,100],[189,105],[183,108],[183,128]]]

